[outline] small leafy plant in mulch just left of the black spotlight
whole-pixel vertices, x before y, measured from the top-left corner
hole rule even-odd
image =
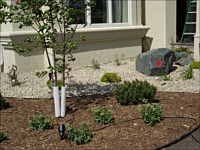
[[[51,127],[50,119],[42,113],[36,114],[35,117],[29,117],[29,127],[32,130],[45,130]]]

